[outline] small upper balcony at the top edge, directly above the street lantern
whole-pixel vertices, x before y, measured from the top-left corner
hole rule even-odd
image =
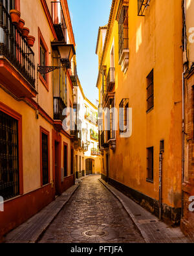
[[[67,27],[60,1],[52,1],[52,22],[59,41],[67,43]]]

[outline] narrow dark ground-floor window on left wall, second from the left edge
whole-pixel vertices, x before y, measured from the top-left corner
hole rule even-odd
[[[48,135],[42,133],[42,173],[43,185],[48,184]]]

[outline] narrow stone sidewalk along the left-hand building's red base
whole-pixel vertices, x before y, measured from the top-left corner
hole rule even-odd
[[[73,185],[67,191],[58,196],[55,201],[51,202],[39,213],[32,216],[29,220],[21,224],[16,229],[10,231],[5,237],[5,243],[36,243],[39,238],[50,226],[51,222],[56,218],[61,209],[71,196],[76,192],[80,183]]]

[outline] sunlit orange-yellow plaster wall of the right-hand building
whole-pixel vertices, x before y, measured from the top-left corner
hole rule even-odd
[[[133,108],[133,134],[120,138],[116,152],[110,150],[109,177],[158,200],[160,140],[164,139],[164,204],[180,207],[182,127],[182,9],[181,0],[152,0],[145,17],[137,16],[137,1],[129,1],[129,68],[118,65],[118,8],[114,8],[111,36],[103,58],[110,67],[114,41],[116,108],[129,99]],[[155,104],[146,113],[146,77],[154,69]],[[99,91],[102,77],[98,82]],[[147,183],[146,148],[154,146],[154,183]],[[104,154],[104,168],[105,168]],[[105,170],[103,171],[105,173]]]

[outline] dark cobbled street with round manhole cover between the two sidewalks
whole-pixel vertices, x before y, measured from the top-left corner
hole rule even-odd
[[[99,178],[89,176],[81,181],[39,242],[144,242],[120,202]],[[84,235],[85,231],[91,232]]]

